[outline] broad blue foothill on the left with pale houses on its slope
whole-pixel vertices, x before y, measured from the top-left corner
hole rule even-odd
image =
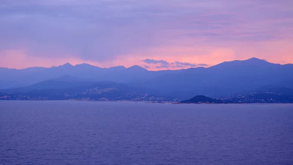
[[[176,101],[177,99],[157,96],[151,94],[149,90],[122,83],[60,81],[59,79],[36,83],[26,88],[8,89],[1,93],[0,100]]]

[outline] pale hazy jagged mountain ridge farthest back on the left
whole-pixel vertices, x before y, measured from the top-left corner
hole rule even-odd
[[[124,66],[100,68],[86,63],[75,66],[70,63],[65,63],[51,68],[0,68],[0,80],[2,81],[2,83],[0,82],[0,89],[31,85],[37,82],[55,79],[64,75],[87,79],[87,81],[114,81],[126,83],[145,81],[162,74],[165,74],[165,72],[151,72],[138,65],[134,65],[129,68]],[[8,82],[15,82],[15,85],[10,85]]]

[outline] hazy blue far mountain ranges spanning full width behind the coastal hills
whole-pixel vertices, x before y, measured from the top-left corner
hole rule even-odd
[[[163,71],[148,71],[137,65],[100,68],[69,63],[51,68],[0,68],[0,92],[3,93],[73,89],[93,86],[101,81],[110,83],[107,88],[131,88],[131,92],[137,94],[180,99],[195,95],[219,97],[268,88],[293,88],[293,64],[281,65],[251,58],[223,62],[208,68]],[[114,84],[116,87],[113,87]]]

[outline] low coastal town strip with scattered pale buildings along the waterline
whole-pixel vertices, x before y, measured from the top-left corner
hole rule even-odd
[[[280,95],[234,95],[227,97],[218,97],[212,101],[196,100],[191,102],[183,102],[178,98],[157,97],[150,94],[127,93],[125,95],[103,95],[99,94],[117,90],[115,88],[107,89],[91,89],[83,93],[69,95],[56,94],[55,96],[29,96],[25,94],[4,94],[0,93],[0,100],[30,100],[30,101],[46,101],[46,100],[79,100],[79,101],[130,101],[130,102],[146,102],[146,103],[293,103],[290,97]],[[98,95],[97,95],[98,94]]]

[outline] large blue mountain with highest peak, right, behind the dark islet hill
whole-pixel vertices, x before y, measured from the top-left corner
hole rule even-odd
[[[188,99],[192,95],[210,97],[247,93],[261,86],[293,80],[293,65],[274,64],[252,58],[244,61],[223,62],[209,68],[190,68],[173,74],[137,83],[163,94]]]

